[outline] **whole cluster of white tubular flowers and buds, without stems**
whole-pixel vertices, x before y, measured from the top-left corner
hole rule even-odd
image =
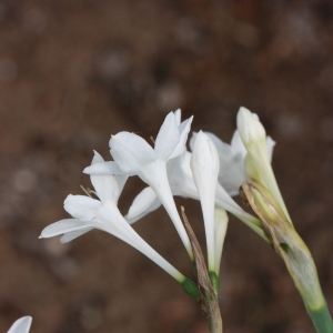
[[[90,175],[94,190],[88,191],[87,195],[68,195],[64,209],[72,219],[47,226],[40,238],[62,234],[61,242],[65,243],[92,229],[103,230],[150,258],[198,297],[191,280],[154,251],[131,224],[163,205],[190,259],[194,261],[191,242],[173,196],[199,200],[206,235],[208,270],[219,276],[228,226],[225,211],[266,239],[261,221],[232,199],[239,193],[240,185],[249,178],[259,180],[275,194],[281,206],[285,206],[271,169],[274,141],[266,137],[255,114],[245,108],[240,109],[238,130],[231,144],[212,133],[200,131],[193,133],[189,151],[186,141],[192,119],[181,122],[180,110],[170,112],[153,147],[134,133],[112,135],[109,144],[113,161],[105,162],[94,152],[91,165],[83,171]],[[260,165],[260,172],[253,165]],[[138,175],[148,186],[138,194],[123,216],[118,209],[118,200],[125,182],[133,175]]]

